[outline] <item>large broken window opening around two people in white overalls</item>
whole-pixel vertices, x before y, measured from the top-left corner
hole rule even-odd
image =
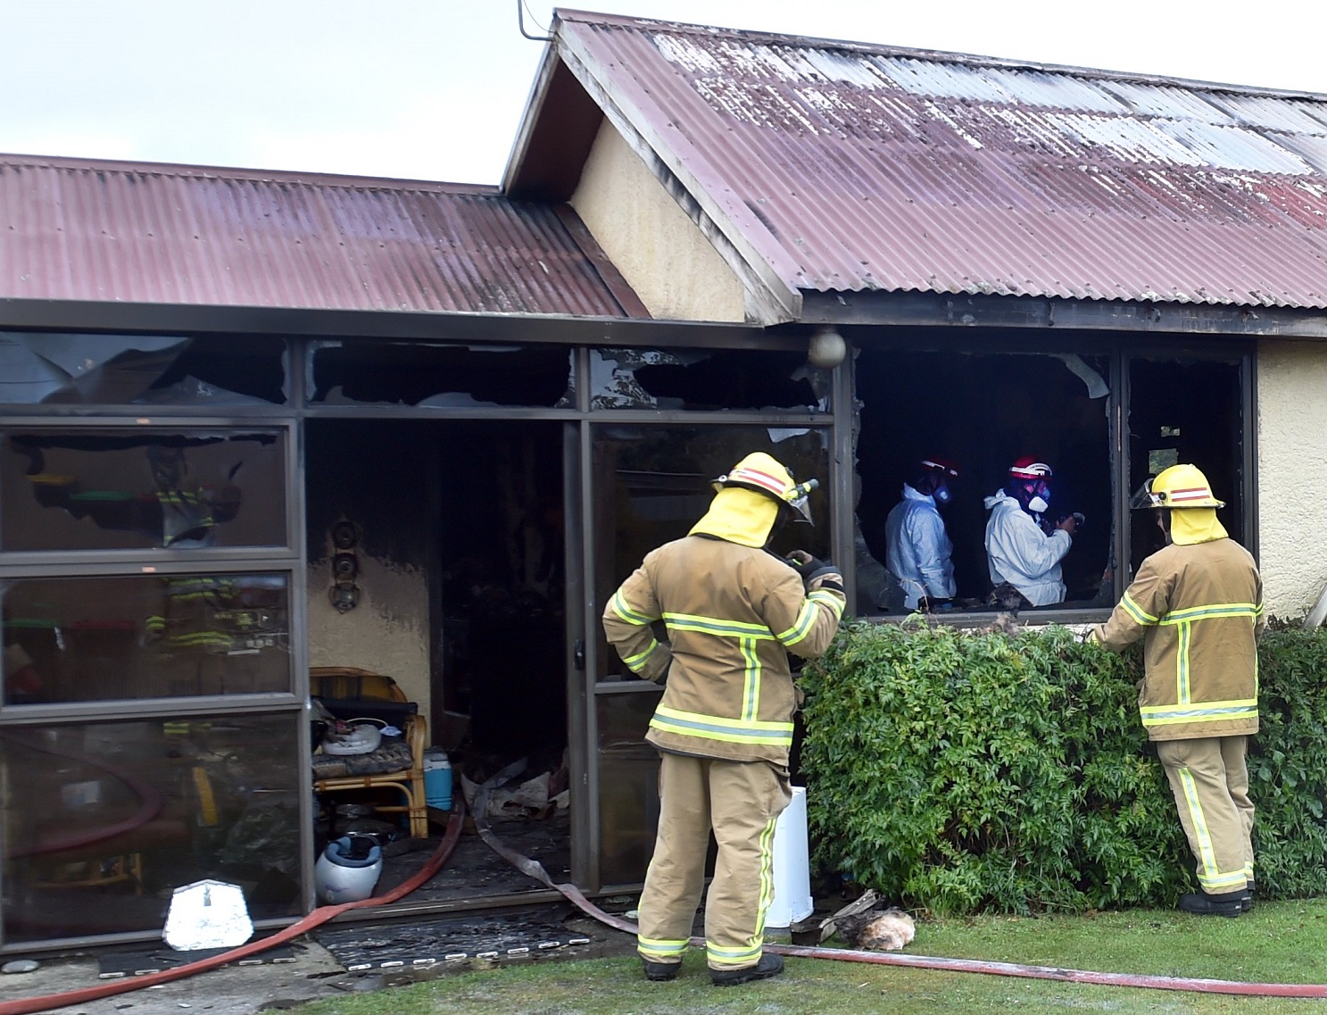
[[[986,528],[1010,466],[1024,455],[1054,471],[1050,504],[1034,516],[1040,525],[1054,531],[1074,512],[1085,519],[1055,565],[1063,604],[1113,602],[1109,377],[1109,356],[864,349],[856,365],[857,610],[905,612],[900,582],[888,573],[886,519],[920,462],[936,456],[959,470],[942,511],[955,586],[947,608],[1009,605],[993,597],[1001,582],[993,580]]]

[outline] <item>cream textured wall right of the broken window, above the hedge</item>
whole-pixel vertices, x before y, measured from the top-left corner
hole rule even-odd
[[[1258,553],[1267,612],[1327,585],[1327,345],[1258,342]]]

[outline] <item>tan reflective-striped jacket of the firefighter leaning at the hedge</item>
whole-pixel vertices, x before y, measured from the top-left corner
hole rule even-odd
[[[1112,651],[1144,636],[1143,726],[1153,740],[1186,740],[1258,732],[1265,626],[1253,556],[1217,539],[1172,544],[1144,560],[1093,634]]]

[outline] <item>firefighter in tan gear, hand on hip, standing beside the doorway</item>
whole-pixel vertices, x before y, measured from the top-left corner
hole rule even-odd
[[[824,653],[845,600],[836,568],[804,551],[784,560],[766,545],[783,517],[809,521],[815,486],[767,454],[747,455],[714,480],[710,509],[690,533],[646,555],[604,610],[626,666],[666,681],[646,735],[661,752],[661,813],[637,942],[653,981],[681,969],[711,828],[719,853],[705,908],[710,977],[731,984],[783,971],[763,942],[774,825],[791,799],[798,691],[787,653]],[[660,620],[666,643],[652,632]]]

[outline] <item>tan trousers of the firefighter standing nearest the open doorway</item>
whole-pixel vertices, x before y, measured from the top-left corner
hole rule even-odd
[[[705,888],[710,829],[719,845],[705,904],[710,969],[754,966],[774,898],[774,825],[792,799],[786,770],[661,752],[660,828],[641,893],[637,950],[681,962]]]

